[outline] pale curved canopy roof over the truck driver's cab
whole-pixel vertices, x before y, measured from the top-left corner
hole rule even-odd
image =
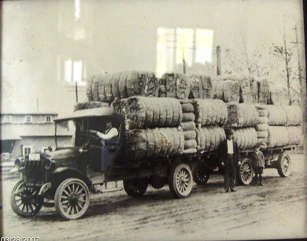
[[[110,107],[99,107],[99,108],[79,110],[69,115],[62,116],[61,118],[57,118],[54,121],[61,122],[61,121],[78,120],[78,119],[90,118],[90,117],[109,117],[109,118],[115,118],[117,120],[123,121],[123,116],[116,113]]]

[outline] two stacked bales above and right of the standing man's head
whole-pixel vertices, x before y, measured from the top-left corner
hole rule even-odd
[[[259,114],[253,104],[227,103],[228,119],[226,126],[234,130],[234,140],[239,150],[254,148],[257,144],[257,131]]]

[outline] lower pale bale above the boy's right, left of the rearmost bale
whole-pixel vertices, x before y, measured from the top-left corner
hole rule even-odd
[[[269,126],[268,147],[281,147],[289,143],[289,133],[286,126]]]

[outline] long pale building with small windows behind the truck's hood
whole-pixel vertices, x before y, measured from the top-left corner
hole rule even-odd
[[[55,149],[56,113],[1,113],[1,153],[10,154],[10,159],[33,152],[44,152],[48,148]],[[72,146],[73,130],[68,122],[57,125],[57,145]]]

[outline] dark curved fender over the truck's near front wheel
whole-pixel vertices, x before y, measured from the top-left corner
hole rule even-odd
[[[52,174],[56,177],[55,181],[60,181],[60,182],[71,177],[79,178],[86,183],[90,191],[95,191],[91,180],[76,168],[58,167],[52,172]]]

